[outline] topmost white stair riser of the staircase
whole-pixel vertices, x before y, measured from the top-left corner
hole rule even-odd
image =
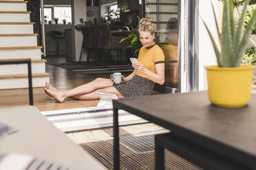
[[[0,1],[0,11],[27,11],[28,1]]]

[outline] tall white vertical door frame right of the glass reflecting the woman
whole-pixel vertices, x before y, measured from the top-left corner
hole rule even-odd
[[[180,93],[198,90],[198,0],[178,1],[178,90]]]

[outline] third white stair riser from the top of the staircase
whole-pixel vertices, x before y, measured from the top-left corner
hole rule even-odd
[[[32,34],[34,33],[32,24],[2,24],[0,34]]]

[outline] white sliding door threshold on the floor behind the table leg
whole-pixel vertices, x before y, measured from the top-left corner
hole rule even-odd
[[[41,113],[45,115],[47,119],[58,129],[63,132],[69,132],[113,126],[113,111],[109,109],[111,109],[111,106],[55,110]],[[118,115],[119,125],[131,125],[147,122],[145,119],[136,117],[124,110],[119,110]]]

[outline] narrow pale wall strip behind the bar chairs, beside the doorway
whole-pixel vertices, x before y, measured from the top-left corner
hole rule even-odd
[[[81,30],[75,29],[75,25],[81,24],[79,19],[86,20],[86,1],[85,0],[73,0],[72,1],[72,34],[73,40],[73,60],[78,61],[80,51],[83,43],[83,33]]]

